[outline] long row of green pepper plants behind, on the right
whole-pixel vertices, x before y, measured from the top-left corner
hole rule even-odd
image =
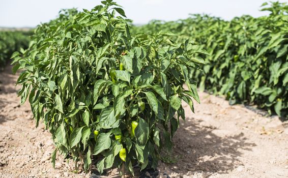
[[[208,15],[134,27],[133,33],[170,31],[172,38],[189,38],[205,46],[211,56],[193,79],[201,90],[225,95],[231,104],[256,104],[288,118],[288,6],[263,4],[269,16],[236,17],[231,21]]]

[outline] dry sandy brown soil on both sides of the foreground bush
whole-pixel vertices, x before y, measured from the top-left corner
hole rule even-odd
[[[28,103],[19,105],[16,80],[11,66],[0,73],[0,177],[89,177],[73,173],[61,156],[52,168],[51,135],[43,125],[35,128]],[[199,94],[195,114],[183,103],[186,121],[165,156],[173,163],[159,164],[160,177],[288,177],[287,122]]]

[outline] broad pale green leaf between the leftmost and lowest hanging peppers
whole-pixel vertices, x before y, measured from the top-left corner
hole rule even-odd
[[[104,150],[109,149],[111,145],[110,135],[111,132],[99,134],[93,155],[98,155]]]

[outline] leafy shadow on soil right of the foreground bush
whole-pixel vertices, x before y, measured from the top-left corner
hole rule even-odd
[[[219,137],[212,133],[214,128],[200,126],[201,121],[187,121],[173,138],[177,162],[165,164],[174,172],[225,173],[242,163],[241,150],[251,151],[254,143],[246,141],[243,133]]]

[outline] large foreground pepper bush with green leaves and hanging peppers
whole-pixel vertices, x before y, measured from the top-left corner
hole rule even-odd
[[[116,16],[116,14],[121,16]],[[130,35],[123,9],[111,0],[91,11],[63,11],[37,27],[30,47],[13,54],[17,84],[37,126],[51,132],[56,153],[89,169],[155,168],[185,119],[182,100],[199,102],[189,77],[207,51],[174,34]],[[183,85],[187,85],[187,90]]]

